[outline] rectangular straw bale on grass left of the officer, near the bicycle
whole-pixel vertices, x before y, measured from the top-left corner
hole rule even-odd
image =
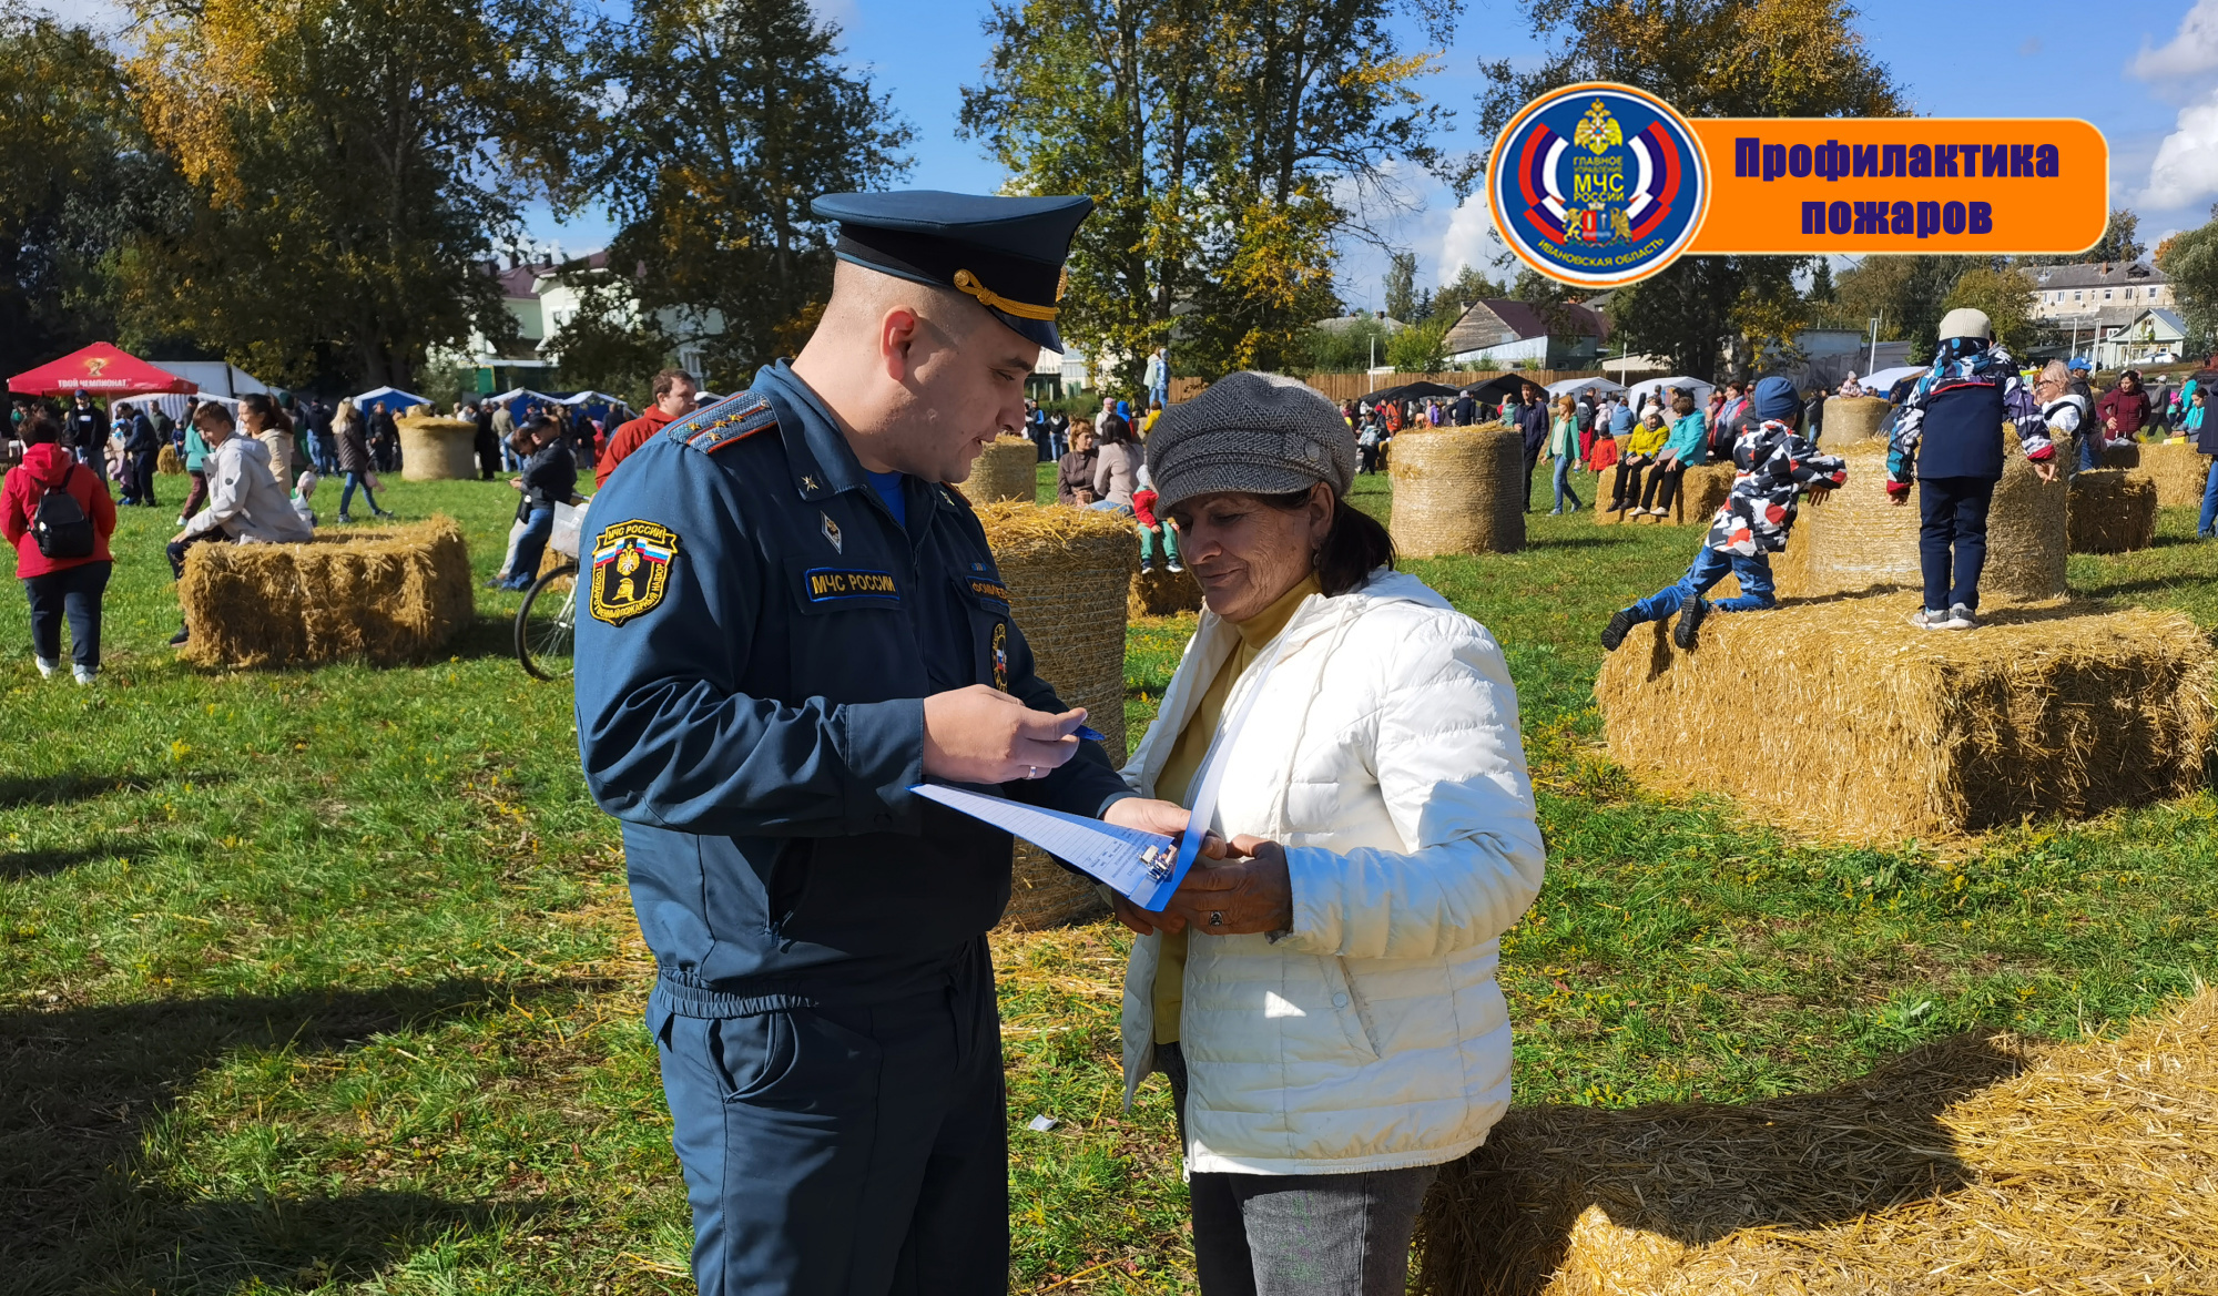
[[[177,584],[200,666],[417,661],[475,617],[470,548],[452,517],[317,530],[308,544],[195,544]]]

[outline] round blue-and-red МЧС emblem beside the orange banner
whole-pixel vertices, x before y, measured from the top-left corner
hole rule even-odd
[[[1686,120],[1646,91],[1590,82],[1533,100],[1495,140],[1495,229],[1528,266],[1588,288],[1646,280],[1701,229],[1710,186]]]

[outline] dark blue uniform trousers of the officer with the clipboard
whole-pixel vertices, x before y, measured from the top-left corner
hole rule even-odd
[[[659,981],[701,1296],[1000,1296],[1009,1150],[985,936],[898,994]]]

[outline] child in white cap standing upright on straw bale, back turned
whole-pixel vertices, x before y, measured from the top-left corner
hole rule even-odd
[[[1919,486],[1919,566],[1925,606],[1910,617],[1921,630],[1978,626],[1978,573],[1987,566],[1987,506],[2003,479],[2003,422],[2043,482],[2056,479],[2056,446],[2018,362],[1994,342],[1983,311],[1941,317],[1941,346],[1919,379],[1888,444],[1888,499],[1910,502]]]

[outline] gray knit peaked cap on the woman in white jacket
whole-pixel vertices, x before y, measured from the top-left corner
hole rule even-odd
[[[1286,495],[1329,482],[1355,484],[1355,431],[1333,402],[1275,373],[1229,373],[1202,395],[1162,411],[1147,437],[1156,510],[1242,490]]]

